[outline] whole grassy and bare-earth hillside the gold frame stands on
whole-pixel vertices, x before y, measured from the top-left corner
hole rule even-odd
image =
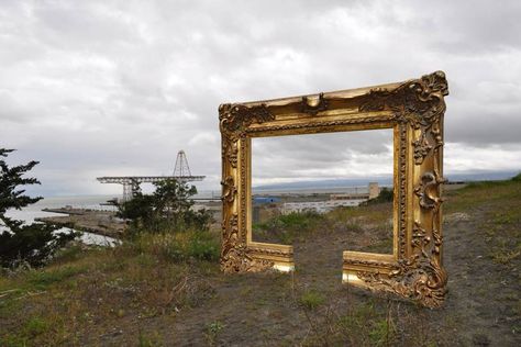
[[[390,249],[389,203],[258,225],[297,271],[224,276],[219,227],[77,245],[0,278],[1,346],[516,346],[521,344],[521,177],[450,191],[440,310],[341,284],[342,250]]]

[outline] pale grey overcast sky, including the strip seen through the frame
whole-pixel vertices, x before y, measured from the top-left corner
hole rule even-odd
[[[220,103],[441,69],[445,171],[518,170],[520,18],[519,0],[0,0],[0,147],[41,161],[46,195],[121,193],[96,177],[168,175],[181,148],[219,189]],[[255,144],[256,181],[391,163],[386,132],[301,138]]]

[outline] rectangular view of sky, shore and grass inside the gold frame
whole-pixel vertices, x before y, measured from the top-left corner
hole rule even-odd
[[[392,154],[391,128],[252,138],[252,240],[392,254]]]

